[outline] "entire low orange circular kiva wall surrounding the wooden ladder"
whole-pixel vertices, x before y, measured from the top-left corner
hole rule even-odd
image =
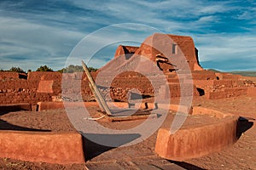
[[[122,107],[121,102],[115,105]],[[68,105],[68,106],[67,106]],[[69,109],[81,105],[97,105],[96,103],[69,102]],[[14,106],[14,105],[12,105]],[[123,105],[124,107],[125,105]],[[0,106],[1,107],[6,106]],[[154,107],[148,103],[149,109]],[[159,105],[160,108],[166,105]],[[64,108],[62,102],[39,102],[39,110]],[[191,114],[190,116],[209,115],[215,117],[214,122],[204,125],[185,126],[172,134],[170,128],[160,127],[157,135],[155,151],[169,160],[183,161],[190,158],[206,156],[234,144],[237,138],[238,117],[203,107],[187,108],[181,105],[169,105],[176,114],[178,108]],[[66,108],[67,109],[67,108]],[[169,113],[171,114],[171,113]],[[0,131],[0,157],[8,157],[23,161],[44,161],[49,163],[83,163],[83,140],[79,133]],[[50,147],[50,148],[49,148]]]

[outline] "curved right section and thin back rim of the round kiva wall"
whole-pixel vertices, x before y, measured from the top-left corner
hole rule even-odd
[[[78,105],[78,103],[74,103]],[[60,108],[61,103],[43,102],[39,108],[54,109]],[[92,105],[86,102],[80,105]],[[94,104],[96,105],[96,103]],[[124,102],[116,102],[118,107],[127,107]],[[159,105],[166,108],[167,105]],[[171,133],[170,128],[160,127],[156,139],[156,153],[166,159],[183,161],[190,158],[207,156],[212,152],[223,150],[224,147],[234,144],[238,139],[237,122],[238,116],[221,111],[215,111],[200,106],[187,107],[185,105],[168,105],[170,111],[176,114],[189,112],[189,116],[210,116],[214,121],[208,124],[194,124],[184,126],[177,133]],[[73,107],[70,103],[69,107]],[[143,108],[143,106],[141,107]],[[148,103],[148,109],[154,109],[154,103]],[[177,112],[179,111],[179,112]],[[169,113],[171,114],[171,113]],[[197,118],[198,119],[198,118]],[[86,150],[84,150],[86,153]]]

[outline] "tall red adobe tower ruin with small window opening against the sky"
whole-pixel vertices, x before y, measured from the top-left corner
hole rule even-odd
[[[130,59],[135,54],[144,56],[154,62],[156,54],[163,54],[172,64],[182,67],[184,66],[183,62],[186,62],[191,71],[203,70],[201,65],[199,65],[198,51],[191,37],[155,33],[147,37],[139,48],[119,46],[114,58],[116,59],[123,54],[125,54],[125,59]],[[128,54],[130,55],[128,56]],[[162,64],[161,67],[164,70],[173,69],[171,65]]]

